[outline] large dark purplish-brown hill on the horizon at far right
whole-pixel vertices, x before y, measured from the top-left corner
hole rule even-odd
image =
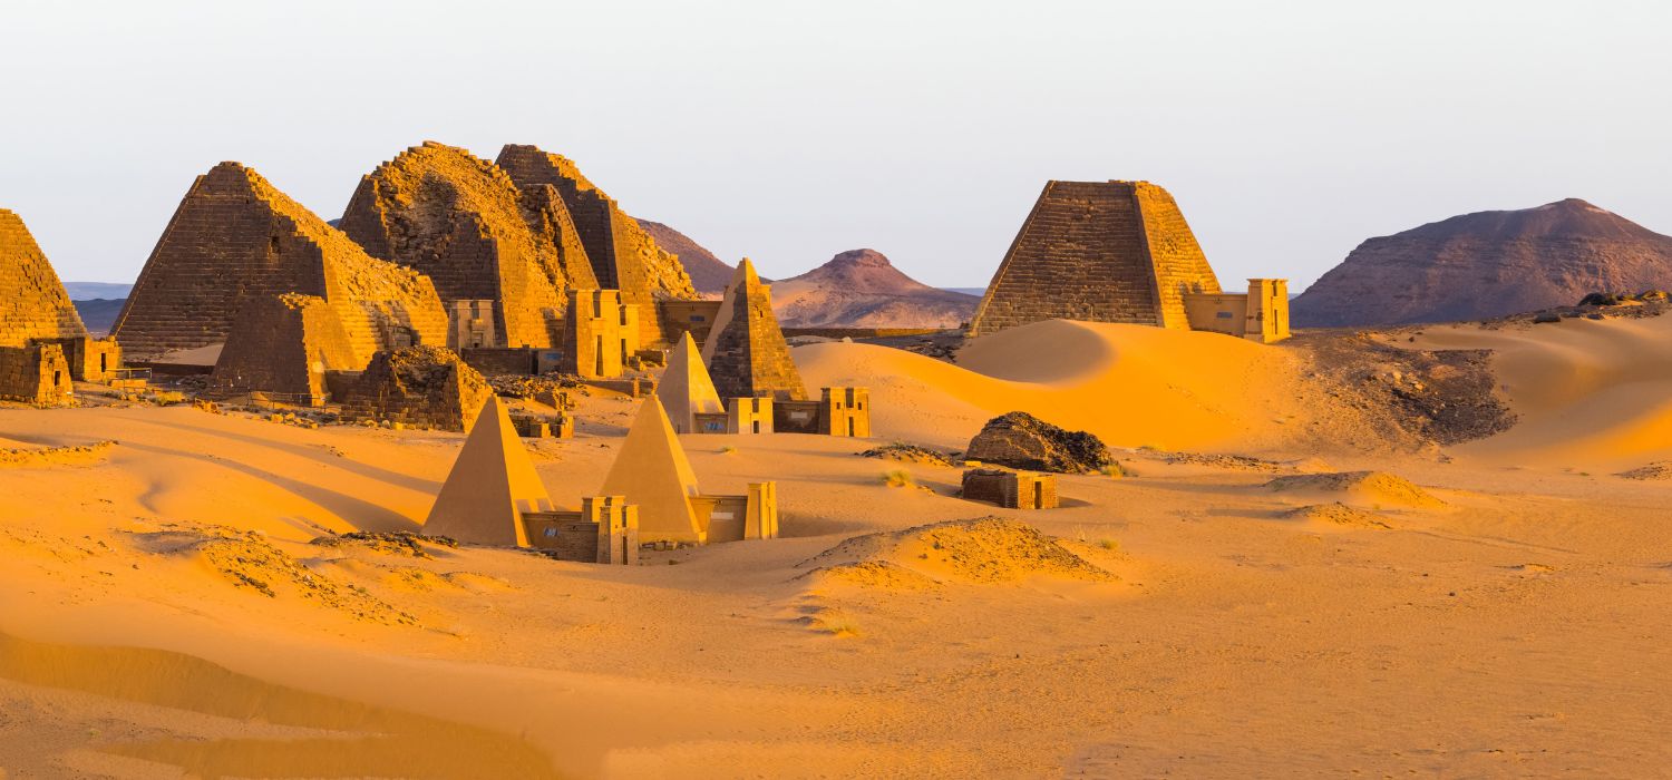
[[[1672,237],[1585,200],[1369,239],[1291,304],[1296,326],[1453,322],[1672,289]]]

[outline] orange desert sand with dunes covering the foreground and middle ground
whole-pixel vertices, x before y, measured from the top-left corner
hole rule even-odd
[[[878,441],[961,449],[1023,409],[1127,474],[998,509],[874,441],[681,436],[704,489],[776,479],[782,538],[640,566],[336,536],[418,531],[463,434],[3,409],[0,768],[1655,775],[1669,329],[1386,334],[1498,351],[1517,424],[1446,448],[1371,441],[1296,349],[1217,334],[1052,321],[958,366],[803,346],[809,386],[871,387]],[[599,488],[637,404],[594,393],[573,439],[530,443],[553,499]]]

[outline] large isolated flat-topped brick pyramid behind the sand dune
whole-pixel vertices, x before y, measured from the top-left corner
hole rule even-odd
[[[1042,319],[1189,327],[1185,292],[1219,279],[1167,190],[1048,182],[970,322],[983,336]]]

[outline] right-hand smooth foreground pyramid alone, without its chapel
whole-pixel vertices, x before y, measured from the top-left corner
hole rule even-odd
[[[639,409],[599,494],[627,496],[629,504],[639,504],[640,541],[707,541],[707,528],[691,509],[697,474],[655,398]]]

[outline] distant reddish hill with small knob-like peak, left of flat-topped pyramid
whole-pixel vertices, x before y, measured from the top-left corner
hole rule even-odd
[[[956,327],[980,302],[911,279],[874,249],[772,284],[772,309],[786,327]]]

